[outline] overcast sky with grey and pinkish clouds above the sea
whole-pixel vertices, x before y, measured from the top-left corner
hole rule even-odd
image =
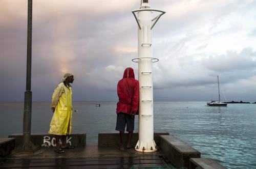
[[[154,100],[256,101],[256,1],[150,0],[166,11],[153,30]],[[50,101],[66,72],[73,100],[116,101],[126,67],[138,65],[140,0],[34,0],[33,101]],[[26,90],[27,0],[0,0],[0,101]],[[222,99],[224,96],[222,95]]]

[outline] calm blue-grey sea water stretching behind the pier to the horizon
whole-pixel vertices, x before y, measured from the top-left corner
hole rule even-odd
[[[116,102],[74,102],[72,132],[87,133],[97,144],[98,133],[114,131]],[[206,102],[154,102],[154,130],[167,131],[227,168],[256,168],[256,104],[209,107]],[[32,132],[48,132],[48,102],[32,104]],[[0,103],[0,137],[23,130],[23,103]],[[138,130],[138,116],[135,119]]]

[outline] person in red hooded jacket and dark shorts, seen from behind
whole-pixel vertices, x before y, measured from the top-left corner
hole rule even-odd
[[[134,77],[132,68],[126,68],[123,73],[123,78],[118,81],[117,95],[119,101],[117,103],[116,113],[117,122],[116,130],[120,133],[121,146],[123,148],[123,135],[126,126],[126,131],[129,132],[126,148],[132,148],[132,136],[134,131],[135,115],[138,115],[139,103],[139,81]]]

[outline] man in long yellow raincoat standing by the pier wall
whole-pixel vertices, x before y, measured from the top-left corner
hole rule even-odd
[[[55,88],[52,95],[51,109],[54,112],[50,123],[50,134],[55,134],[56,147],[54,149],[57,153],[64,153],[62,149],[74,148],[67,146],[67,134],[71,133],[72,124],[72,88],[70,83],[74,81],[74,75],[66,73],[62,82]],[[60,146],[59,140],[61,137]]]

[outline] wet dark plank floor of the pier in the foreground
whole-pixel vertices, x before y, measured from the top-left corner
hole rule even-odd
[[[162,156],[161,150],[153,153],[142,153],[132,149],[120,151],[118,147],[98,147],[86,145],[65,149],[58,154],[53,148],[40,148],[35,153],[12,151],[0,168],[169,168],[170,164]]]

